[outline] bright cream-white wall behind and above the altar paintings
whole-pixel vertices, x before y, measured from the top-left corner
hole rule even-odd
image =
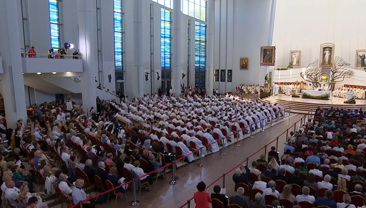
[[[288,65],[291,50],[301,50],[300,67],[306,67],[320,58],[321,44],[332,43],[334,55],[354,68],[356,50],[366,49],[365,7],[365,0],[277,1],[276,67]]]

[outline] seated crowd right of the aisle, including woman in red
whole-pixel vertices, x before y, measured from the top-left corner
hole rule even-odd
[[[235,170],[236,196],[227,199],[215,186],[211,198],[205,198],[198,184],[195,201],[196,197],[203,204],[218,200],[224,207],[238,204],[243,208],[366,207],[366,131],[356,124],[359,114],[362,109],[355,115],[317,109],[313,120],[290,132],[281,157],[272,147],[267,160],[262,154],[250,168]]]

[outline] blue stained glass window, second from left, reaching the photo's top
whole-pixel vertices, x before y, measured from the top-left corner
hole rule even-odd
[[[123,71],[122,0],[113,0],[113,16],[114,16],[113,21],[114,21],[114,44],[115,44],[115,71]]]

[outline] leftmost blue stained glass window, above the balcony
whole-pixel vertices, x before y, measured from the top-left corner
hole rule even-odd
[[[51,47],[54,49],[60,46],[60,25],[59,25],[59,2],[57,0],[48,0],[49,23],[51,32]]]

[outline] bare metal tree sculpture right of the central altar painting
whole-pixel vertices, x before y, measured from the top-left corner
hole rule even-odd
[[[354,75],[354,73],[355,73],[354,71],[346,68],[349,65],[351,65],[351,64],[348,63],[347,61],[344,61],[339,56],[335,57],[334,67],[332,69],[330,69],[330,71],[332,72],[332,75],[330,76],[329,88],[332,91],[334,90],[336,82],[342,82],[344,80],[344,78],[346,78],[346,77],[350,78],[351,76]]]

